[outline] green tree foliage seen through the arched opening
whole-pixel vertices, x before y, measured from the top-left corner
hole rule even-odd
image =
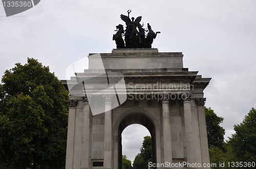
[[[152,139],[151,136],[144,136],[140,153],[135,157],[133,162],[134,169],[147,169],[148,162],[152,161]]]

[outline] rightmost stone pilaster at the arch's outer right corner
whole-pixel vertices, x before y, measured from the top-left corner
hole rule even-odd
[[[201,140],[201,149],[202,149],[202,160],[203,160],[203,163],[208,164],[210,163],[210,158],[209,158],[205,110],[204,110],[205,101],[206,101],[206,98],[196,98],[196,103],[198,105],[198,120],[199,120],[200,140]],[[205,168],[210,168],[210,167],[205,167]]]

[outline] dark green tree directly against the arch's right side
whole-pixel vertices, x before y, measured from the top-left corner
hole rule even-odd
[[[223,122],[224,118],[218,117],[210,107],[205,107],[205,119],[209,148],[215,146],[224,150],[225,129],[220,126],[220,123]]]

